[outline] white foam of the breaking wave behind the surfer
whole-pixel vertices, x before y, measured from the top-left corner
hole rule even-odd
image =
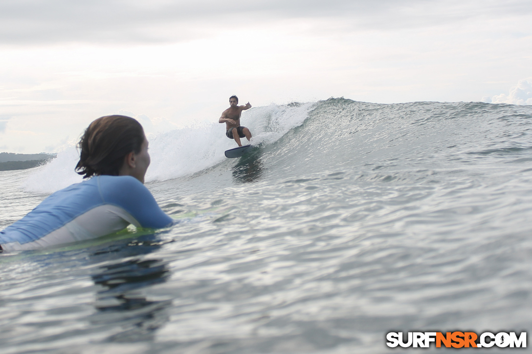
[[[242,114],[240,123],[248,127],[253,138],[251,145],[269,145],[290,129],[303,124],[314,103],[254,107]],[[137,119],[144,122],[151,121]],[[147,133],[151,165],[146,181],[162,181],[196,173],[226,159],[223,152],[237,145],[225,135],[225,124],[218,122]],[[151,130],[150,127],[147,131]],[[168,128],[168,127],[165,127]],[[246,139],[243,139],[245,144]],[[82,181],[74,172],[79,154],[74,144],[65,147],[52,162],[36,169],[24,184],[24,189],[38,193],[52,193]]]

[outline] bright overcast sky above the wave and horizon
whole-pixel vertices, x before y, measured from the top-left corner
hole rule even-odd
[[[232,94],[532,104],[532,2],[0,1],[0,151],[56,152],[115,113],[217,122]]]

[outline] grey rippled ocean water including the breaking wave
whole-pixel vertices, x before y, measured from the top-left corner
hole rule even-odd
[[[532,106],[331,98],[242,123],[239,159],[218,123],[149,137],[170,229],[0,255],[0,352],[387,353],[390,331],[532,329]],[[75,164],[0,172],[0,228]]]

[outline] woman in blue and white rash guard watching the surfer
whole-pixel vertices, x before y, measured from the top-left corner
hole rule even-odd
[[[98,118],[78,147],[76,172],[88,180],[53,193],[0,231],[0,251],[94,239],[129,224],[150,229],[172,225],[143,184],[150,159],[139,122],[123,115]]]

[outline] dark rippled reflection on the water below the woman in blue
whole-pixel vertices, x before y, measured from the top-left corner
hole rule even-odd
[[[139,242],[140,241],[140,242]],[[108,341],[131,342],[152,340],[157,328],[168,322],[166,309],[171,300],[151,301],[143,290],[168,280],[170,272],[161,259],[146,259],[146,255],[161,247],[154,235],[126,245],[111,245],[93,252],[92,260],[119,262],[105,264],[92,275],[94,283],[103,286],[96,294],[98,310],[91,322],[109,325]],[[121,330],[117,333],[117,325]]]

